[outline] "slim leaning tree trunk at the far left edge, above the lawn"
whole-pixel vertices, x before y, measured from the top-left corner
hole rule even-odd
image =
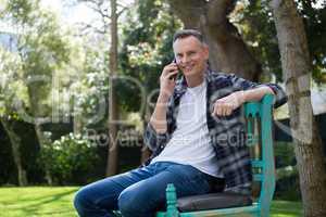
[[[14,163],[17,168],[17,174],[18,174],[18,184],[20,187],[27,186],[27,176],[26,176],[26,170],[24,169],[22,165],[22,156],[21,156],[21,151],[20,148],[22,145],[22,141],[20,136],[16,135],[16,132],[13,129],[13,123],[7,120],[7,119],[1,119],[2,126],[9,137],[10,143],[11,143],[11,149],[12,149],[12,155],[14,158]]]

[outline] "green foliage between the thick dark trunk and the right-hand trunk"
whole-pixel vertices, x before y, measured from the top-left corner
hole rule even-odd
[[[234,12],[234,23],[264,72],[275,74],[281,80],[280,55],[272,13],[265,1],[239,1]]]

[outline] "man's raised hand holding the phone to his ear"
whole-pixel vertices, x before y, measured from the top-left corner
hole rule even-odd
[[[163,68],[160,77],[160,95],[170,98],[175,87],[173,76],[178,73],[176,63],[171,63]]]

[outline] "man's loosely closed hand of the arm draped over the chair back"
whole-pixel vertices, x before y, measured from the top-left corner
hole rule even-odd
[[[227,116],[244,103],[243,91],[234,92],[227,97],[216,100],[214,103],[213,116]]]

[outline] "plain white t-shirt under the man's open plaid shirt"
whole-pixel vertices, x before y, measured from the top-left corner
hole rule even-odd
[[[214,148],[206,125],[206,82],[187,88],[180,99],[176,130],[165,149],[151,162],[174,162],[191,165],[215,177],[223,177],[217,168]]]

